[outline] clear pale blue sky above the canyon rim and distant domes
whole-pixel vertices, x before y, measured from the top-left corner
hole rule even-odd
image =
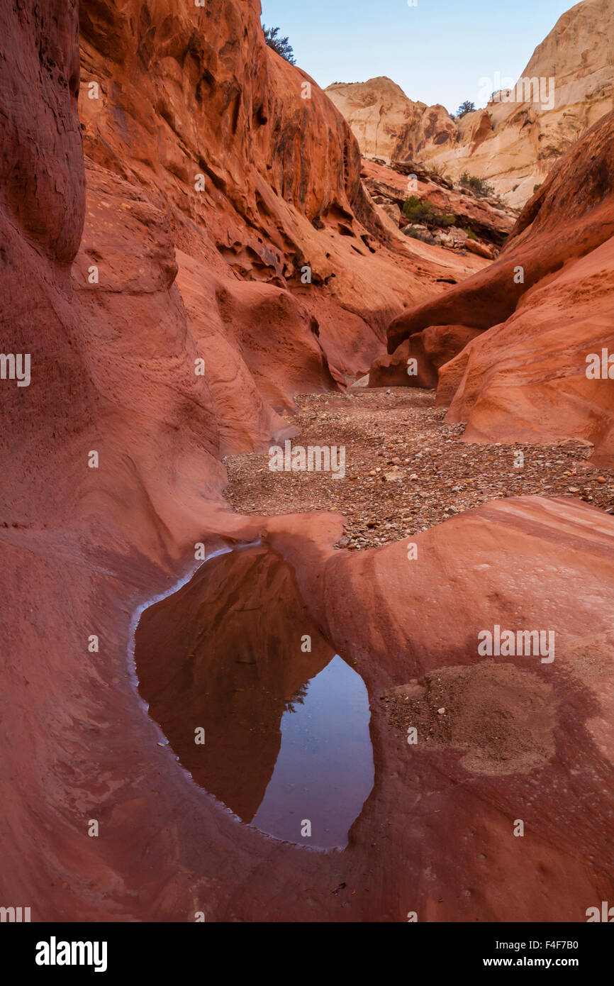
[[[322,88],[387,75],[411,100],[454,112],[481,78],[514,80],[573,0],[261,0]],[[500,88],[493,85],[493,89]]]

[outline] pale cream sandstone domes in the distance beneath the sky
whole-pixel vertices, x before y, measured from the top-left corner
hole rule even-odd
[[[521,206],[556,159],[614,108],[614,0],[584,0],[563,14],[521,77],[554,78],[554,106],[491,103],[454,120],[443,106],[409,100],[385,77],[335,83],[326,92],[363,154],[414,158],[454,180],[463,172],[487,178],[510,205]]]

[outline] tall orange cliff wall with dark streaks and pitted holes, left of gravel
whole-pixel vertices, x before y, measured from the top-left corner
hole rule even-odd
[[[172,290],[195,355],[207,357],[213,411],[241,451],[268,438],[273,411],[292,407],[294,393],[337,387],[368,365],[390,318],[441,276],[385,227],[349,127],[303,71],[260,43],[258,25],[252,2],[102,0],[81,11],[93,221],[80,284],[92,294],[94,251],[106,290],[103,235],[114,229],[100,222],[102,196],[155,210],[132,245],[116,245],[122,277],[131,263],[139,276],[138,241],[168,224],[161,262],[176,268]],[[462,258],[454,266],[459,279],[472,272]]]

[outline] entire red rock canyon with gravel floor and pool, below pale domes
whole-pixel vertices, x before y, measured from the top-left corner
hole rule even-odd
[[[520,210],[362,157],[258,0],[10,0],[0,38],[0,906],[585,922],[610,76]]]

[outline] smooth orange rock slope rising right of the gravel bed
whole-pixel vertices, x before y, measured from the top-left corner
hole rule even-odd
[[[553,169],[494,264],[392,321],[393,355],[375,362],[374,381],[396,380],[422,350],[421,373],[439,370],[447,420],[466,421],[467,440],[576,437],[613,460],[614,387],[587,374],[591,354],[614,353],[613,141],[614,112]],[[433,326],[458,340],[444,365],[428,353]],[[459,326],[479,334],[465,345]]]

